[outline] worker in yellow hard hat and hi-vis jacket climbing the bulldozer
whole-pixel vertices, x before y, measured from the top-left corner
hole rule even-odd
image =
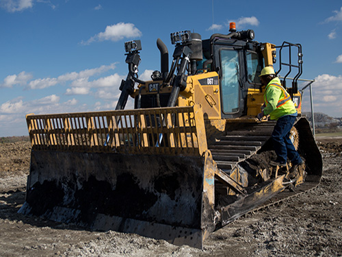
[[[276,77],[272,66],[263,68],[259,77],[261,84],[265,85],[266,88],[263,95],[265,103],[257,117],[261,120],[264,116],[269,115],[270,119],[277,121],[272,132],[277,158],[270,164],[285,167],[287,158],[289,158],[292,164],[289,170],[289,178],[295,178],[297,168],[303,162],[290,139],[290,130],[297,117],[297,110],[295,110],[291,96],[281,86],[280,79]]]

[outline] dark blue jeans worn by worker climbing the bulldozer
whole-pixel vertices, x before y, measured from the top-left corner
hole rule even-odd
[[[294,122],[295,116],[285,115],[280,117],[274,126],[272,139],[278,162],[286,163],[287,157],[289,157],[292,164],[302,163],[302,158],[300,158],[290,139],[290,130]]]

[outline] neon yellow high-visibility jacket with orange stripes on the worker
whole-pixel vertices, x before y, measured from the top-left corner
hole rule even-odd
[[[265,100],[265,109],[263,114],[268,115],[272,120],[278,120],[280,117],[295,114],[295,105],[291,100],[291,96],[287,90],[282,87],[280,79],[275,77],[272,79],[265,88],[263,94]]]

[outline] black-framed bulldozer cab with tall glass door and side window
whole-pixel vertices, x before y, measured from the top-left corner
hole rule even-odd
[[[220,77],[222,119],[246,115],[248,88],[261,88],[259,75],[263,56],[259,44],[247,40],[213,38],[204,40],[204,52],[211,46],[211,69]]]

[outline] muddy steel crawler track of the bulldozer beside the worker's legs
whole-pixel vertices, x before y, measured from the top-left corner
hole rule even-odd
[[[222,219],[222,225],[226,225],[248,212],[272,206],[284,199],[317,187],[321,178],[321,164],[319,163],[321,156],[313,136],[310,136],[310,127],[306,125],[307,121],[305,123],[303,120],[298,119],[295,127],[302,134],[302,146],[299,151],[301,151],[302,156],[306,159],[306,172],[308,175],[305,182],[298,186],[293,186],[294,182],[286,182],[282,178],[274,178],[273,175],[266,183],[272,186],[272,184],[277,183],[276,180],[281,181],[283,189],[279,193],[269,194],[265,196],[265,199],[258,199],[258,201],[260,200],[259,204],[255,203],[256,198],[254,197],[254,193],[257,191],[249,191],[248,195],[237,197],[237,201],[233,204],[222,207],[222,213],[226,213],[226,218]],[[298,123],[298,121],[300,122]],[[267,141],[271,138],[275,124],[275,121],[245,123],[242,126],[240,125],[241,128],[227,132],[226,136],[223,136],[209,147],[213,154],[213,159],[218,164],[218,168],[227,174],[231,174],[231,171],[237,167],[239,162],[243,162],[257,154],[261,147],[265,146],[267,149],[272,147],[271,142],[267,143]],[[317,170],[313,169],[315,166],[317,166]]]

